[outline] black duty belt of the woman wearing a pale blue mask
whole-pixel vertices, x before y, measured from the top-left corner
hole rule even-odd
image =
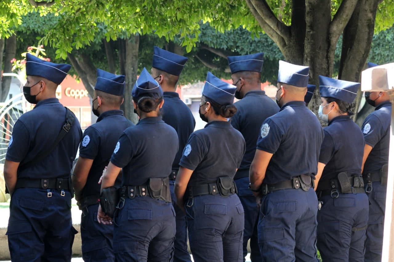
[[[339,194],[365,193],[361,175],[352,176],[346,172],[339,173],[337,178],[320,182],[318,188],[318,197],[330,195],[337,198]]]

